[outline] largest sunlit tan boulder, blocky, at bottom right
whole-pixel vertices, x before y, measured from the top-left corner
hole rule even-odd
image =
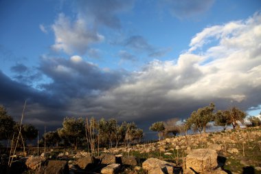
[[[207,173],[218,166],[218,154],[212,149],[194,149],[186,157],[187,173]],[[192,168],[192,169],[191,169]]]

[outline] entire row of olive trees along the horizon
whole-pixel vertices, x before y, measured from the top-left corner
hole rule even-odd
[[[215,105],[202,107],[193,111],[190,118],[179,120],[172,118],[165,122],[155,122],[150,126],[151,131],[161,136],[175,136],[178,133],[186,134],[188,130],[205,132],[209,122],[215,122],[216,126],[222,126],[225,130],[232,125],[234,129],[239,127],[246,118],[246,113],[237,107],[214,112]],[[248,118],[250,124],[247,126],[259,126],[261,121],[256,117]],[[3,105],[0,105],[0,140],[18,144],[25,147],[26,140],[34,140],[38,136],[38,130],[32,124],[21,124],[14,122],[8,115]],[[19,138],[18,138],[19,137]],[[38,141],[39,146],[87,146],[91,152],[99,151],[100,147],[117,147],[119,144],[134,144],[141,141],[144,131],[139,129],[135,122],[122,122],[111,118],[95,120],[95,118],[64,118],[63,127],[56,131],[45,132]]]

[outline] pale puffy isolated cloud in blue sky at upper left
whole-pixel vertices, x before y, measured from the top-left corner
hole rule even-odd
[[[58,19],[52,25],[55,34],[55,44],[52,48],[56,51],[64,51],[67,54],[78,52],[84,54],[89,45],[104,41],[104,36],[95,30],[88,28],[88,24],[83,19],[74,22],[65,14],[59,14]]]

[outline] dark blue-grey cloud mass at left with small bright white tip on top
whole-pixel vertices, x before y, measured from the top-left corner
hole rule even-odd
[[[43,89],[65,98],[95,95],[120,84],[126,74],[102,71],[96,65],[73,58],[43,58],[40,69],[52,79],[52,83],[42,85]]]

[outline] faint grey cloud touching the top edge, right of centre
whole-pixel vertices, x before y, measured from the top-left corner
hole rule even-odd
[[[195,15],[202,14],[211,8],[215,0],[166,0],[166,6],[170,12],[179,19],[194,17]]]

